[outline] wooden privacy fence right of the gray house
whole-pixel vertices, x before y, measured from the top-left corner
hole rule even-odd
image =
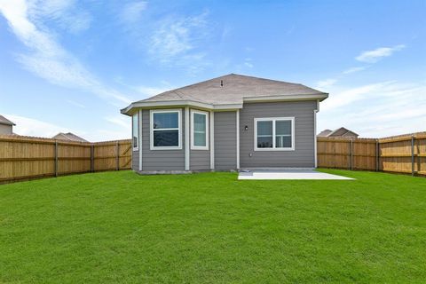
[[[426,175],[426,132],[389,138],[317,138],[318,166]]]

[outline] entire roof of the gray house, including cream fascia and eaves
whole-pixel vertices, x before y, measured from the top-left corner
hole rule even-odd
[[[194,105],[207,108],[241,108],[244,101],[327,99],[328,94],[300,83],[287,83],[247,75],[224,75],[201,83],[165,91],[136,101],[122,109],[131,114],[134,107]]]

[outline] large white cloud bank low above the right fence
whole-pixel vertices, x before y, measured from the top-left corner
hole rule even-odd
[[[361,137],[380,138],[425,130],[425,83],[335,86],[321,103],[319,130],[345,126]]]

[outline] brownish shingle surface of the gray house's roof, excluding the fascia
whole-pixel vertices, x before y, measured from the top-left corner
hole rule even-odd
[[[243,98],[319,95],[324,93],[300,83],[287,83],[247,75],[224,75],[201,83],[165,91],[139,102],[193,100],[212,105],[241,104]]]

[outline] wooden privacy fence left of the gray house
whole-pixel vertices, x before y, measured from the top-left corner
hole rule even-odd
[[[130,167],[130,139],[81,143],[0,136],[0,183]]]

